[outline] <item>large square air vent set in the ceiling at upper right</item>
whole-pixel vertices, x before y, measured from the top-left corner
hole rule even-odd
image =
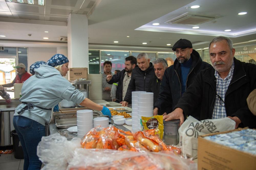
[[[166,21],[168,24],[185,24],[185,25],[200,25],[205,22],[209,22],[215,19],[221,18],[221,16],[210,16],[198,13],[185,13],[176,18]]]

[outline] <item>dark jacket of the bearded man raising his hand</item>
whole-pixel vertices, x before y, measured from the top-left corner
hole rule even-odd
[[[118,82],[118,86],[116,87],[116,100],[119,102],[123,101],[123,79],[124,79],[125,69],[121,72],[112,76],[111,80],[107,82],[108,84],[113,84]]]

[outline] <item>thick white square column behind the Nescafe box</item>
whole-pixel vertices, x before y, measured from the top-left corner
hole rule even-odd
[[[87,67],[88,56],[88,19],[86,15],[68,16],[68,59],[70,67]]]

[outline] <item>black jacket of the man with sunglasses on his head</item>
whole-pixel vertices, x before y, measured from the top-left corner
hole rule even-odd
[[[159,94],[159,90],[160,90],[160,85],[161,85],[161,80],[158,79],[156,76],[151,78],[150,81],[149,81],[148,92],[154,93],[154,104],[157,102],[157,98],[158,98],[158,94]],[[170,107],[168,107],[168,106],[166,108],[164,108],[165,110],[160,108],[158,110],[158,115],[163,115],[164,112],[169,111]]]

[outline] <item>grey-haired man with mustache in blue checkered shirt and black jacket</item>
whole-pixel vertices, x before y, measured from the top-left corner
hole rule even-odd
[[[234,58],[235,49],[228,37],[215,37],[209,44],[213,67],[196,76],[165,121],[180,119],[200,106],[199,120],[229,117],[237,127],[256,128],[256,116],[247,105],[247,97],[256,88],[256,65]]]

